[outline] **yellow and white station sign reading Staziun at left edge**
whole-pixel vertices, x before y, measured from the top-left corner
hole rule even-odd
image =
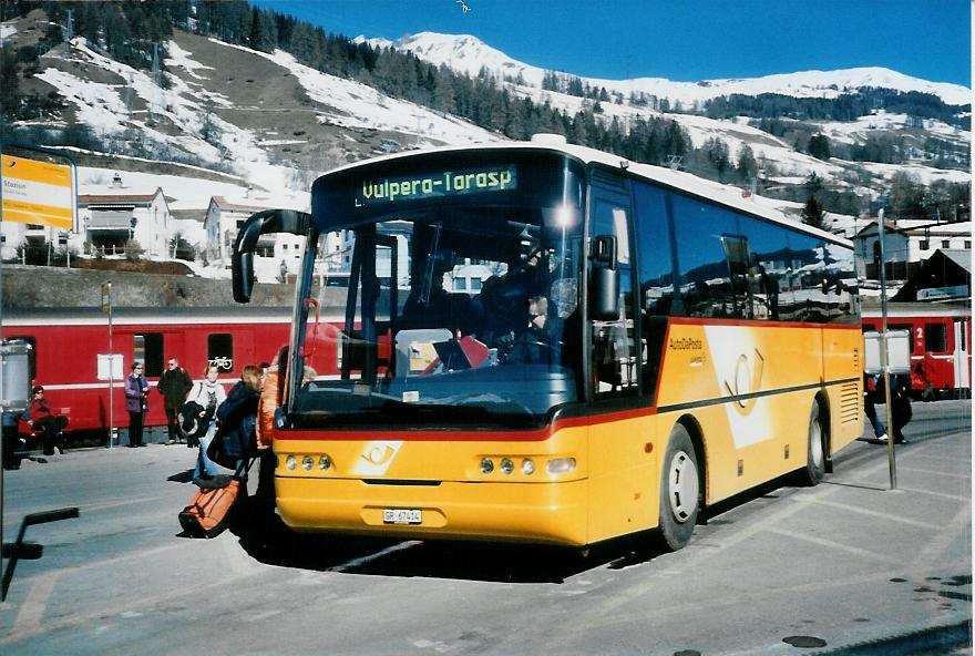
[[[78,194],[72,166],[2,155],[0,177],[3,221],[74,230]]]

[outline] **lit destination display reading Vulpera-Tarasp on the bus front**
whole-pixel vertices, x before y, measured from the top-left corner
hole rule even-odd
[[[356,188],[356,207],[379,203],[422,201],[466,194],[507,192],[517,188],[514,164],[466,171],[363,180]]]

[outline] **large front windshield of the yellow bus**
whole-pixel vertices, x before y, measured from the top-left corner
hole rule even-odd
[[[528,177],[515,202],[389,203],[321,233],[296,427],[541,426],[577,400],[582,191],[553,205],[565,189],[534,195]]]

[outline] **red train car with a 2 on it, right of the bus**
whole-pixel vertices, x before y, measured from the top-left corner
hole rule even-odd
[[[863,330],[880,330],[880,305],[865,305]],[[911,389],[930,382],[942,398],[972,393],[972,308],[962,304],[889,303],[887,329],[911,332]]]

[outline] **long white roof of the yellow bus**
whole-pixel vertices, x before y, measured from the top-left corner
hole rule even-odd
[[[622,175],[629,177],[646,180],[674,191],[696,196],[698,198],[709,201],[711,203],[723,205],[738,212],[750,214],[760,218],[764,218],[772,223],[788,226],[792,229],[801,230],[815,237],[832,242],[834,244],[852,248],[853,243],[844,237],[834,235],[827,230],[814,228],[812,226],[799,223],[786,216],[781,211],[777,209],[770,198],[751,196],[745,198],[741,195],[741,188],[717,183],[714,181],[698,177],[694,174],[682,171],[674,171],[664,166],[655,166],[653,164],[642,164],[632,162],[619,155],[613,155],[595,148],[569,144],[565,137],[555,134],[536,134],[532,141],[509,141],[480,143],[473,145],[461,146],[440,146],[432,148],[422,148],[417,151],[403,151],[390,155],[380,155],[370,160],[362,160],[352,164],[346,164],[333,168],[321,177],[329,177],[336,173],[345,172],[360,166],[367,166],[377,162],[389,162],[394,160],[406,160],[424,155],[428,153],[462,153],[479,151],[538,151],[538,152],[556,152],[573,157],[585,165],[597,164],[617,171]]]

